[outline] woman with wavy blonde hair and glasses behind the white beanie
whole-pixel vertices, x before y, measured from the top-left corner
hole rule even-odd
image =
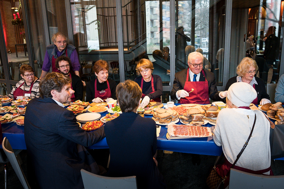
[[[263,105],[270,103],[271,101],[266,92],[264,81],[259,77],[255,77],[257,70],[258,66],[255,60],[249,57],[243,58],[237,66],[238,76],[234,76],[228,80],[225,90],[228,90],[233,83],[245,82],[250,84],[257,92],[257,98],[254,99],[253,104]]]

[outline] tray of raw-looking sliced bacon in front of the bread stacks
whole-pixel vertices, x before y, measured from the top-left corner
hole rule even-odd
[[[167,139],[186,139],[212,136],[209,127],[169,124]]]

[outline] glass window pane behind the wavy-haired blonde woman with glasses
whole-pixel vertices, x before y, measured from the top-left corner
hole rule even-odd
[[[230,77],[237,75],[236,67],[244,57],[251,57],[259,69],[255,76],[265,83],[277,83],[283,38],[283,1],[233,1],[232,6]]]

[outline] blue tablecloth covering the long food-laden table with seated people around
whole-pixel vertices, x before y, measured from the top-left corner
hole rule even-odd
[[[176,104],[179,105],[179,104]],[[108,112],[101,113],[101,117],[104,117]],[[151,115],[144,115],[144,117],[151,118]],[[180,121],[176,124],[182,124]],[[204,126],[211,127],[213,125],[207,123]],[[95,131],[87,131],[95,132]],[[24,139],[24,126],[19,126],[15,122],[2,124],[3,138],[7,137],[13,149],[27,149]],[[143,133],[141,133],[143,134]],[[207,141],[205,138],[189,138],[189,139],[178,139],[168,140],[166,137],[167,128],[166,125],[161,125],[159,136],[157,137],[157,149],[191,153],[191,154],[202,154],[211,156],[220,156],[222,154],[222,147],[217,146],[213,139]],[[0,147],[1,148],[1,147]],[[106,138],[96,144],[88,147],[88,149],[107,149]],[[282,159],[282,158],[281,158]]]

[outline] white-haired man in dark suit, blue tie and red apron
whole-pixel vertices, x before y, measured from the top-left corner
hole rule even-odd
[[[188,55],[188,68],[177,72],[171,98],[180,104],[210,104],[209,98],[220,101],[226,92],[218,92],[215,76],[203,68],[203,55],[192,52]]]

